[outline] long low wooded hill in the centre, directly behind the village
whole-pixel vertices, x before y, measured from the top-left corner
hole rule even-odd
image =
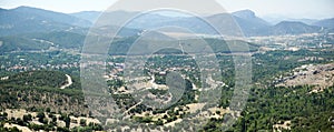
[[[115,41],[114,43],[110,44],[109,48],[109,54],[127,54],[128,50],[132,47],[134,42],[137,40],[136,37],[130,37],[130,38],[122,38],[122,39],[118,39],[117,41]],[[249,43],[249,42],[245,42],[245,41],[238,41],[238,40],[222,40],[222,39],[204,39],[208,45],[210,45],[210,48],[213,49],[213,51],[215,53],[230,53],[229,47],[227,45],[227,42],[232,43],[230,47],[233,47],[234,49],[238,49],[238,51],[235,52],[244,52],[247,49],[245,49],[245,47],[240,47],[240,45],[245,45],[248,44],[249,47],[249,51],[250,52],[255,52],[258,50],[258,45],[254,44],[254,43]],[[196,39],[186,39],[186,40],[141,40],[140,42],[136,43],[136,44],[140,44],[141,47],[138,47],[139,49],[136,49],[136,51],[140,53],[149,53],[150,50],[148,50],[150,47],[154,47],[156,44],[166,44],[166,45],[173,45],[173,44],[177,44],[175,47],[178,47],[178,43],[183,43],[183,47],[187,47],[189,49],[189,51],[194,51],[193,53],[199,53],[203,52],[200,49],[198,49],[196,47],[196,44],[200,44],[198,43],[199,41]],[[242,44],[243,43],[243,44]],[[191,48],[194,47],[194,48]],[[178,50],[175,49],[164,49],[157,53],[180,53]]]

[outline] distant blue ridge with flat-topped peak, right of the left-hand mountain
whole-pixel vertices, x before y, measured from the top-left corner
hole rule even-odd
[[[111,18],[121,19],[122,16],[129,16],[129,13],[134,14],[136,12],[115,11],[115,12],[107,12],[107,13]],[[77,13],[76,16],[79,13]],[[228,13],[212,14],[203,18],[213,22],[215,26],[222,26],[225,24],[224,19],[226,20],[230,17],[235,20],[235,22],[237,22],[243,33],[247,37],[314,33],[314,32],[320,32],[320,27],[322,27],[321,24],[324,23],[324,22],[322,23],[315,22],[314,24],[310,24],[316,20],[291,19],[291,20],[301,20],[301,22],[281,21],[276,24],[272,24],[265,21],[264,19],[257,17],[256,13],[252,10],[240,10],[229,14]],[[326,24],[323,27],[325,28],[332,27],[331,21],[325,23]],[[139,18],[138,20],[132,20],[131,23],[128,24],[129,28],[137,28],[137,29],[156,29],[161,26],[183,27],[193,30],[195,33],[204,33],[204,34],[216,33],[214,29],[210,29],[207,26],[207,23],[205,23],[205,21],[202,21],[200,18],[196,18],[196,17],[177,18],[177,17],[166,17],[166,16],[158,16],[158,14],[145,14],[143,18]],[[230,30],[233,30],[230,27],[222,26],[220,28],[226,29],[225,33],[233,34],[233,32],[229,32]]]

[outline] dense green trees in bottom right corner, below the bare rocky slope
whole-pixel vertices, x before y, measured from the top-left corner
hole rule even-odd
[[[308,93],[312,87],[252,88],[247,106],[230,131],[272,131],[291,121],[294,131],[333,131],[334,87]],[[210,120],[205,131],[217,131],[223,120]],[[216,128],[216,129],[213,129]]]

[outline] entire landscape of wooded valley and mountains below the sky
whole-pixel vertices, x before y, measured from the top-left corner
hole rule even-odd
[[[108,34],[121,26],[92,28],[100,13],[0,10],[1,132],[334,131],[331,19],[202,17],[233,18],[244,33],[235,37],[198,17],[147,13]],[[154,30],[161,26],[193,32]]]

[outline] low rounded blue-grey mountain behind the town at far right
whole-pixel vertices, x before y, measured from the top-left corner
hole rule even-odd
[[[274,27],[263,31],[265,35],[282,35],[282,34],[301,34],[301,33],[314,33],[320,32],[321,28],[315,26],[308,26],[297,21],[282,21]]]

